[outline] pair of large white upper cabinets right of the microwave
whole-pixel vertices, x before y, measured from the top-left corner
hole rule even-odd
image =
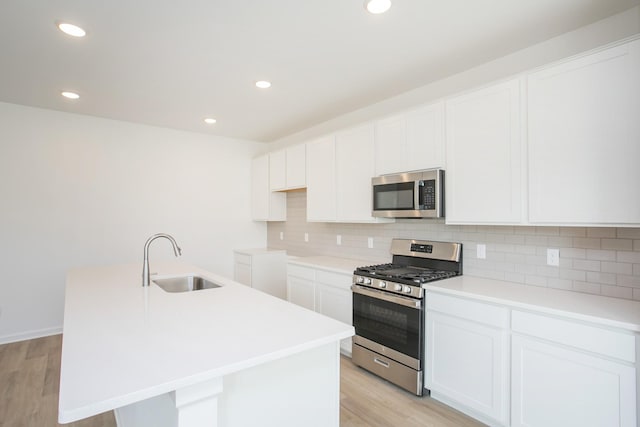
[[[446,101],[447,223],[640,224],[640,40]]]

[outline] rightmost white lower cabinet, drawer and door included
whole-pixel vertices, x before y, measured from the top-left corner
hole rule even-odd
[[[632,334],[520,311],[512,329],[512,426],[637,426]]]

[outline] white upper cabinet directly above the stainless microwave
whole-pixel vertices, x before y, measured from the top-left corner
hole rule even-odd
[[[444,166],[444,103],[388,117],[375,124],[375,174]]]

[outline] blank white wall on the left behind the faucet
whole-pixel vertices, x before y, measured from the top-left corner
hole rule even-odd
[[[263,145],[0,103],[0,343],[58,332],[69,268],[140,263],[172,234],[182,260],[232,277]],[[153,261],[173,258],[169,242]],[[118,310],[113,307],[114,312]]]

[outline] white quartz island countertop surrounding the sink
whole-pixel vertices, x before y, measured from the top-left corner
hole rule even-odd
[[[316,348],[352,326],[197,267],[152,263],[223,285],[167,293],[141,265],[67,275],[59,421],[66,423]]]

